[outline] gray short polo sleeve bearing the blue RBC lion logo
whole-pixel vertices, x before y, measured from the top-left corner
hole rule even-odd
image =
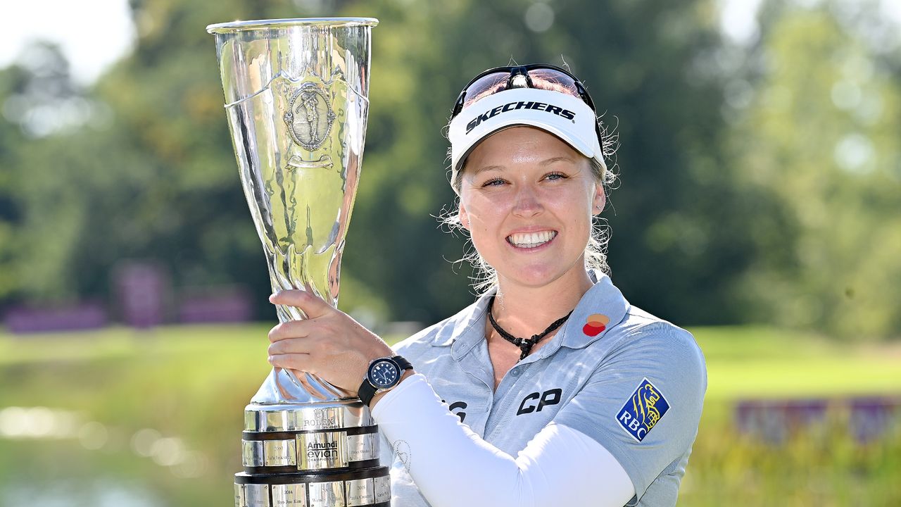
[[[704,355],[687,330],[631,305],[588,348],[599,360],[556,420],[610,451],[640,500],[690,453],[704,408]]]

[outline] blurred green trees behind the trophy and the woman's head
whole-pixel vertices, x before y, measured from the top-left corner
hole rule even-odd
[[[471,300],[442,134],[482,69],[568,63],[619,135],[614,281],[684,325],[899,336],[901,52],[868,2],[767,2],[736,43],[713,0],[132,0],[134,51],[89,87],[59,48],[0,71],[0,309],[110,301],[123,258],[246,284],[270,318],[207,23],[371,15],[369,132],[342,307],[436,321]]]

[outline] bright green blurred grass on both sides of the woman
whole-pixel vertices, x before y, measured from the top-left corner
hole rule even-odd
[[[151,505],[231,502],[231,475],[241,469],[241,409],[269,371],[268,327],[0,334],[0,410],[73,410],[109,432],[98,452],[77,440],[0,438],[0,506],[100,477],[152,492]],[[739,434],[732,420],[734,402],[743,399],[901,394],[901,347],[849,346],[767,327],[691,330],[705,352],[708,391],[680,505],[901,504],[897,430],[861,445],[839,425],[774,446]],[[136,457],[130,438],[145,428],[182,438],[205,456],[204,472],[187,480]],[[22,493],[26,486],[32,489]],[[96,504],[91,494],[65,504]]]

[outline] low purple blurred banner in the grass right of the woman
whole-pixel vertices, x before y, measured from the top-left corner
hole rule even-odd
[[[776,444],[838,421],[852,438],[866,443],[901,424],[901,398],[745,400],[736,404],[735,420],[741,433]]]

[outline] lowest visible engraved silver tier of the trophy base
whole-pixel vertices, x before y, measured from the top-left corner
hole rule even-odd
[[[235,507],[390,507],[387,466],[350,472],[234,475]]]

